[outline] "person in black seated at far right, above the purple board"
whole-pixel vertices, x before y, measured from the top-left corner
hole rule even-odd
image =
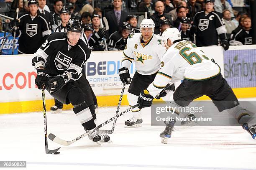
[[[230,45],[249,45],[252,44],[251,18],[243,19],[243,27],[238,32],[232,31]]]

